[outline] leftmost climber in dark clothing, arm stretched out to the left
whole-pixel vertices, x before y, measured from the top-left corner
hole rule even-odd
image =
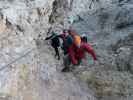
[[[60,46],[60,40],[58,38],[57,33],[53,32],[53,31],[51,33],[52,33],[52,35],[49,37],[46,37],[45,40],[51,39],[51,46],[55,50],[55,57],[58,56],[58,60],[60,60],[60,54],[59,54],[59,50],[58,50],[58,48]]]

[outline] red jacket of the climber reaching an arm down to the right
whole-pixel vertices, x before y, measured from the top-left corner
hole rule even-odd
[[[80,48],[77,48],[74,44],[68,49],[68,54],[72,64],[78,64],[78,60],[85,57],[85,52],[92,55],[93,59],[96,60],[96,54],[88,43],[81,43]]]

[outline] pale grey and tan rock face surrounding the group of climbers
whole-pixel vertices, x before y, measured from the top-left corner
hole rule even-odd
[[[0,100],[130,98],[132,15],[132,0],[1,0]],[[96,64],[61,73],[62,61],[44,41],[49,27],[87,34]]]

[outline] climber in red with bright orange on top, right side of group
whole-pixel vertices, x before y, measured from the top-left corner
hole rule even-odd
[[[70,32],[73,37],[73,43],[68,48],[68,54],[64,58],[64,68],[62,72],[69,71],[70,64],[79,65],[83,58],[85,58],[85,52],[88,52],[92,55],[94,61],[96,60],[96,55],[94,53],[93,48],[86,42],[82,42],[80,36],[78,36],[75,32]]]

